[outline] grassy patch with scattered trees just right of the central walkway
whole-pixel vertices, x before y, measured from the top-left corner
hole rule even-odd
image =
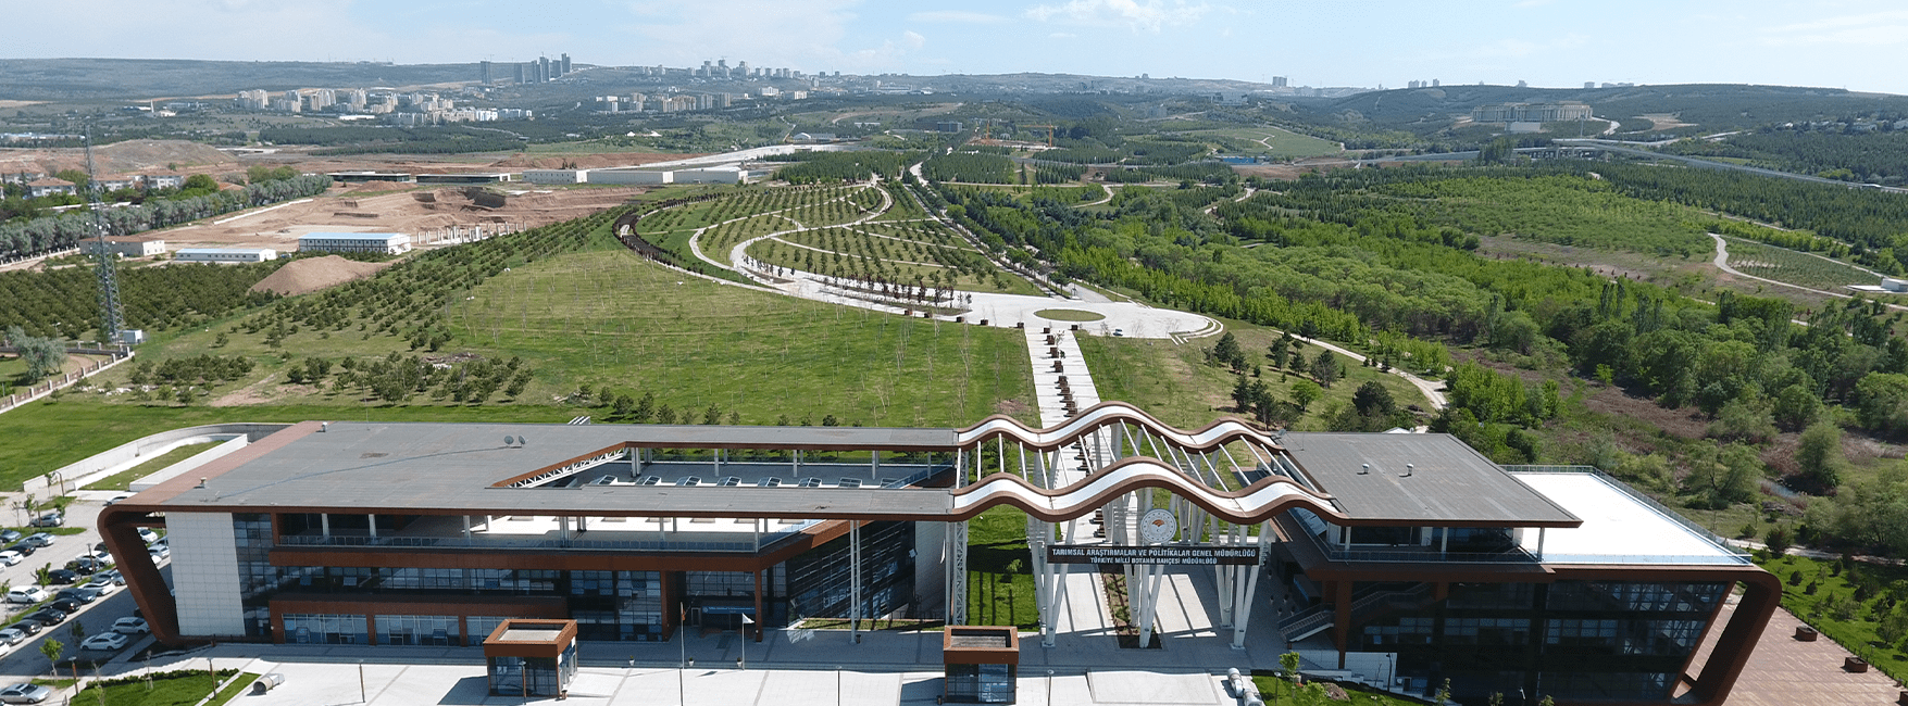
[[[1278,399],[1292,399],[1292,384],[1301,380],[1273,368],[1265,355],[1278,330],[1254,326],[1238,321],[1225,321],[1225,328],[1238,336],[1238,347],[1246,357],[1261,366],[1261,378],[1273,387]],[[1221,416],[1233,416],[1233,385],[1238,382],[1231,370],[1206,363],[1204,349],[1217,343],[1217,338],[1200,338],[1185,345],[1166,340],[1103,338],[1080,336],[1080,353],[1086,355],[1088,370],[1093,372],[1093,385],[1099,399],[1118,399],[1158,416],[1160,422],[1198,429]],[[1322,351],[1317,345],[1299,347],[1307,359]],[[1334,405],[1351,405],[1351,393],[1368,380],[1378,380],[1391,391],[1399,408],[1418,405],[1431,410],[1431,403],[1412,387],[1410,382],[1378,368],[1358,366],[1357,361],[1339,355],[1347,376],[1324,391],[1324,397],[1311,403],[1305,416],[1292,426],[1296,431],[1320,431],[1326,424],[1326,410]],[[1303,378],[1309,380],[1309,378]]]

